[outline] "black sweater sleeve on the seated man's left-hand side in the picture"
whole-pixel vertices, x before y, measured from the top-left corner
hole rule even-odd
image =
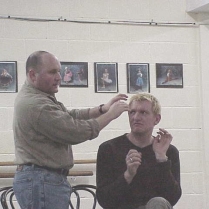
[[[97,199],[104,208],[117,208],[129,194],[123,173],[113,172],[113,154],[109,145],[100,145],[97,154]]]

